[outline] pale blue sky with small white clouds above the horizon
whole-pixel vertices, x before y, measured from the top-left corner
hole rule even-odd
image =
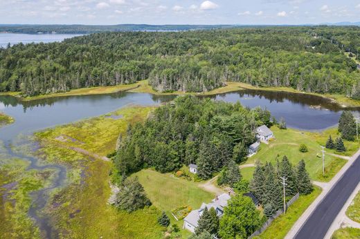
[[[360,21],[360,0],[0,0],[0,23],[303,24]]]

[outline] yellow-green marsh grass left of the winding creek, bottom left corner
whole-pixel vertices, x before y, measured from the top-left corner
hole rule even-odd
[[[53,171],[26,171],[29,162],[0,160],[0,237],[40,238],[39,229],[28,218],[30,193],[49,184]]]

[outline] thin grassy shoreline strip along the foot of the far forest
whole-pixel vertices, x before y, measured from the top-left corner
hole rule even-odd
[[[300,95],[313,95],[316,97],[322,97],[323,99],[330,100],[330,102],[337,104],[341,108],[357,108],[360,107],[360,101],[355,99],[350,99],[345,97],[345,95],[331,95],[331,94],[319,94],[319,93],[308,93],[294,88],[289,87],[258,87],[246,84],[243,82],[226,82],[226,86],[220,88],[215,88],[207,92],[202,93],[193,93],[193,92],[183,92],[183,91],[173,91],[168,93],[163,93],[154,90],[149,84],[147,79],[138,81],[133,84],[122,84],[118,86],[96,86],[91,88],[78,88],[73,89],[65,93],[53,93],[48,95],[37,95],[33,97],[21,97],[20,92],[6,92],[0,93],[0,95],[10,95],[17,97],[17,99],[23,102],[30,102],[37,99],[48,99],[53,97],[68,97],[68,96],[81,96],[81,95],[106,95],[111,93],[120,93],[120,92],[130,92],[130,93],[149,93],[152,95],[217,95],[224,93],[231,93],[239,90],[262,90],[262,91],[272,91],[272,92],[281,92],[281,93],[294,93]]]

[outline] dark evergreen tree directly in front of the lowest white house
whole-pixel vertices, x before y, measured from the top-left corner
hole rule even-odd
[[[211,208],[208,210],[205,207],[203,213],[201,214],[199,220],[197,221],[197,228],[195,229],[195,234],[200,235],[204,231],[208,231],[210,234],[217,234],[219,230],[219,218],[215,209]]]

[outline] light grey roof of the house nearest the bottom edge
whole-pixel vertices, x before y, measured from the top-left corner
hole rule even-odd
[[[184,218],[183,220],[192,224],[192,226],[197,227],[197,221],[199,220],[202,211],[205,209],[205,207],[210,210],[212,207],[216,209],[220,209],[221,211],[224,211],[224,207],[228,205],[228,200],[230,199],[230,195],[228,193],[223,193],[222,195],[217,196],[217,198],[213,199],[210,203],[202,203],[201,207],[199,209],[190,211],[188,216]]]

